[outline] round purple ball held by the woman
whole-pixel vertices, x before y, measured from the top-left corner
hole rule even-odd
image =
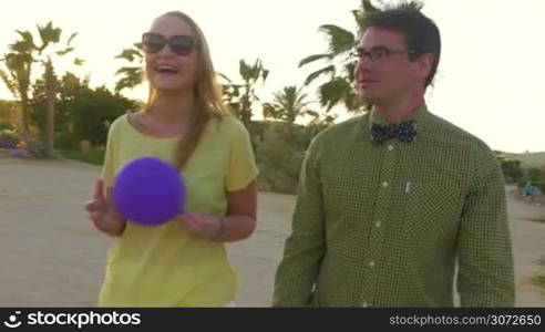
[[[185,185],[179,172],[155,157],[126,164],[115,178],[113,201],[126,219],[142,226],[162,225],[183,212]]]

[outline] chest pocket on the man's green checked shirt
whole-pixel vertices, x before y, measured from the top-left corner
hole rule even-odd
[[[403,232],[422,239],[455,234],[462,212],[461,191],[442,183],[408,183]]]

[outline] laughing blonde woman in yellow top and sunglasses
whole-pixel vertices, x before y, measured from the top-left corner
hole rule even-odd
[[[142,37],[148,105],[110,127],[102,176],[85,206],[119,241],[109,255],[101,307],[225,307],[236,276],[224,242],[256,226],[257,167],[249,135],[222,104],[208,46],[182,12]],[[187,212],[160,227],[124,220],[112,205],[115,174],[134,158],[160,157],[183,173]]]

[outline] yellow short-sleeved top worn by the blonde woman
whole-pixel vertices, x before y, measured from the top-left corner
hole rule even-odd
[[[136,131],[127,115],[110,127],[102,179],[111,187],[128,162],[154,156],[174,163],[179,138]],[[248,132],[233,116],[208,122],[183,169],[185,210],[223,216],[227,191],[245,188],[257,176]],[[195,240],[171,220],[158,227],[127,222],[110,251],[100,307],[222,307],[233,301],[236,274],[224,243]]]

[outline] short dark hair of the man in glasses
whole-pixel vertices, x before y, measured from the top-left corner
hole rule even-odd
[[[411,60],[424,53],[431,53],[433,64],[430,74],[425,77],[424,87],[430,85],[435,76],[441,55],[441,37],[438,25],[418,8],[402,7],[366,13],[360,21],[361,34],[371,27],[401,33],[404,37],[407,49],[415,52],[410,55]]]

